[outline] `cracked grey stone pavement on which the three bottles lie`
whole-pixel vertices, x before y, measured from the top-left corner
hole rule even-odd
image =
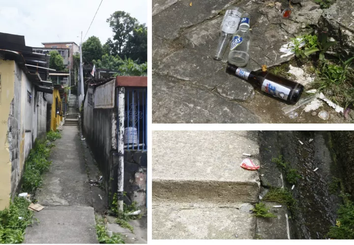
[[[190,2],[152,1],[153,123],[346,123],[336,113],[328,121],[310,113],[292,120],[281,111],[287,105],[284,101],[225,73],[227,52],[222,61],[212,59],[228,5],[241,6],[251,15],[246,68],[257,71],[262,65],[274,67],[293,58],[281,58],[279,49],[313,30],[323,14],[318,4],[302,0],[293,6],[289,19],[282,19],[286,0],[280,0],[281,9],[267,6],[268,0],[194,0],[192,6]],[[224,113],[225,108],[230,113]]]

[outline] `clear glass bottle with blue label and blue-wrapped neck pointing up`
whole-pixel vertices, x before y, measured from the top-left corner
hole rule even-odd
[[[248,13],[242,14],[238,30],[232,37],[228,61],[238,67],[247,65],[249,60],[249,45],[251,41],[249,23],[250,15]]]

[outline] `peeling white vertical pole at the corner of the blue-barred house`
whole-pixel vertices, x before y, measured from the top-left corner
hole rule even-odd
[[[124,87],[118,88],[118,212],[123,212],[124,191]]]

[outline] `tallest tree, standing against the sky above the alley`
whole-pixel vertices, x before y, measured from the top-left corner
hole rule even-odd
[[[116,11],[107,19],[107,23],[114,32],[114,41],[109,39],[106,43],[110,47],[110,54],[121,55],[124,46],[138,24],[138,20],[124,11]]]

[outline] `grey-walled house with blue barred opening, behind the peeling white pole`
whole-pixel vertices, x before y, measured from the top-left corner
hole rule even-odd
[[[107,194],[118,192],[121,177],[117,166],[119,156],[123,155],[125,201],[128,204],[136,201],[144,210],[147,204],[147,77],[117,76],[94,83],[96,80],[100,79],[92,79],[88,84],[84,98],[83,134],[103,174]],[[119,107],[118,101],[124,103]],[[119,133],[123,129],[124,136]],[[118,151],[119,146],[123,152]],[[110,201],[112,197],[109,196]]]

